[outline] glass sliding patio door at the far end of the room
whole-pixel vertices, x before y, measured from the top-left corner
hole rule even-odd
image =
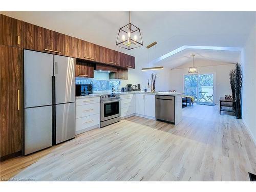
[[[195,101],[202,104],[215,102],[215,74],[185,74],[184,95],[195,97]]]

